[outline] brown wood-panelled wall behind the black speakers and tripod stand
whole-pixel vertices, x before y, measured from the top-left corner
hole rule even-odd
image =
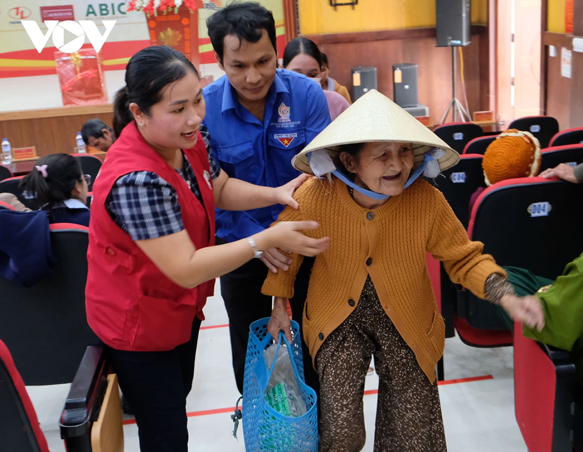
[[[377,68],[378,90],[392,99],[392,64],[416,63],[419,103],[429,107],[437,124],[452,99],[451,48],[436,47],[436,29],[369,31],[306,36],[328,56],[330,76],[349,90],[352,96],[354,66]],[[472,43],[462,47],[465,88],[470,114],[490,109],[489,36],[487,26],[472,26]],[[456,97],[465,105],[461,72],[457,67]],[[451,114],[448,120],[451,120]]]

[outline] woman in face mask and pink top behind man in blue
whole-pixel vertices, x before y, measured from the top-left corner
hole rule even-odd
[[[284,69],[301,73],[319,84],[321,66],[320,51],[314,41],[300,37],[293,38],[287,43],[286,50],[283,52]],[[324,90],[324,94],[328,101],[332,121],[350,106],[344,97],[334,91]]]

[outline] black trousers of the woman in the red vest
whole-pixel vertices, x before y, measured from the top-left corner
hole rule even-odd
[[[121,391],[134,411],[141,452],[188,452],[186,397],[200,327],[195,318],[190,340],[166,352],[109,348]]]

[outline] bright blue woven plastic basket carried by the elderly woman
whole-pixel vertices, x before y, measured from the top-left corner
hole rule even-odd
[[[296,340],[290,345],[283,333],[280,333],[278,346],[283,342],[290,356],[293,356],[291,365],[307,412],[303,416],[293,418],[278,413],[265,402],[265,390],[272,370],[268,369],[263,355],[264,350],[273,341],[271,334],[267,332],[268,321],[269,317],[266,317],[251,324],[247,343],[243,380],[245,449],[252,452],[318,452],[316,393],[304,383],[300,327],[293,320],[291,330]]]

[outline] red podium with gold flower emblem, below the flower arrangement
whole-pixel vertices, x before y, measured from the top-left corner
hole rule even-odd
[[[159,13],[147,17],[152,45],[168,45],[182,52],[199,70],[198,10],[181,5],[177,13]]]

